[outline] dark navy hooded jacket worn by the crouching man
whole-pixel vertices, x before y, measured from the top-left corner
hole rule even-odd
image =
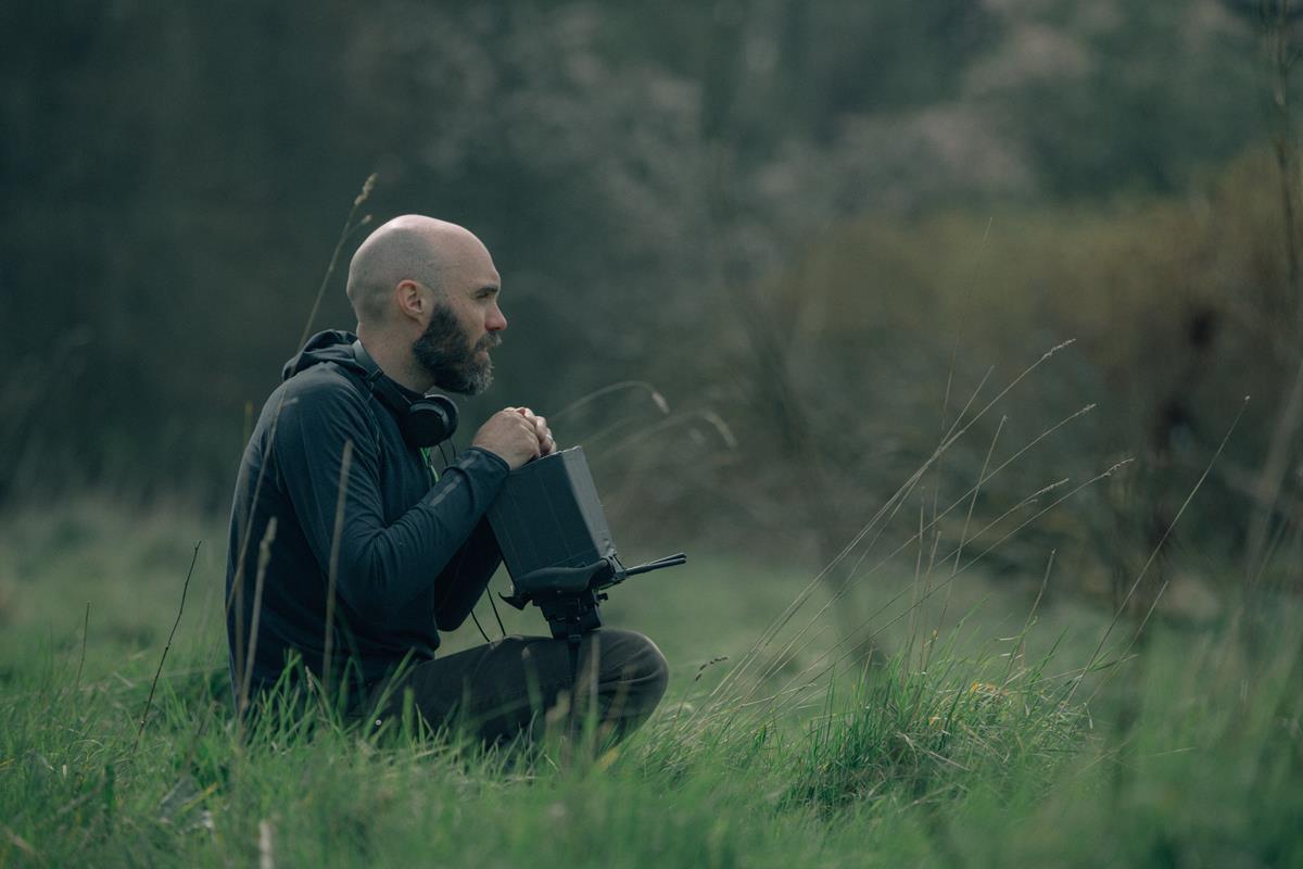
[[[507,463],[472,447],[435,481],[366,387],[356,337],[319,332],[285,363],[240,463],[227,560],[237,697],[242,680],[274,684],[291,653],[322,676],[328,611],[332,677],[352,662],[371,684],[433,658],[502,560],[485,509]]]

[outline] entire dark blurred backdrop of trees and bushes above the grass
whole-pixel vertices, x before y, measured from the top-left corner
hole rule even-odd
[[[902,516],[916,528],[920,503],[1095,403],[982,486],[972,526],[998,539],[1053,499],[1023,503],[1038,487],[1134,459],[993,555],[1038,575],[1044,545],[1070,541],[1102,588],[1252,393],[1171,547],[1237,581],[1274,552],[1294,582],[1295,82],[1273,65],[1294,34],[1268,13],[5,4],[0,499],[180,491],[224,511],[250,408],[375,172],[358,218],[461,223],[503,274],[511,327],[468,423],[631,379],[667,401],[635,387],[554,418],[620,528],[826,558],[990,366],[975,408],[1075,337]],[[314,331],[352,327],[365,232]]]

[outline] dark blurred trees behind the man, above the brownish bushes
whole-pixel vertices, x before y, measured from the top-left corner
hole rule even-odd
[[[1257,138],[1253,31],[1221,4],[1081,9],[12,4],[0,490],[224,504],[246,405],[373,169],[377,220],[438,212],[496,254],[513,330],[493,401],[633,378],[691,414],[731,388],[698,374],[730,362],[735,291],[826,228],[1178,193]],[[328,289],[317,326],[349,326]]]

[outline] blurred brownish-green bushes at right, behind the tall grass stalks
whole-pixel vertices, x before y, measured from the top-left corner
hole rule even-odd
[[[887,539],[915,534],[920,500],[930,521],[939,499],[952,507],[941,551],[967,541],[976,555],[1131,460],[992,558],[1027,572],[1033,552],[1054,546],[1088,586],[1134,576],[1209,466],[1173,552],[1190,564],[1234,551],[1296,370],[1273,176],[1269,155],[1252,151],[1187,199],[863,218],[812,244],[756,293],[758,314],[718,369],[732,374],[721,413],[753,421],[741,453],[777,461],[767,473],[751,461],[715,472],[717,491],[753,515],[713,530],[782,528],[794,506],[783,492],[812,486],[827,500],[818,519],[848,539],[893,506],[900,468],[963,429]],[[1041,360],[1065,341],[1074,344]],[[1033,365],[1035,375],[1001,393]],[[813,453],[805,464],[790,446],[794,425]],[[1303,520],[1295,476],[1282,491],[1273,528],[1277,571],[1289,573]],[[1227,504],[1239,507],[1227,513]]]

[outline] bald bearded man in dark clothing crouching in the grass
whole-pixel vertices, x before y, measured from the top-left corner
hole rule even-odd
[[[285,365],[231,516],[227,634],[241,711],[278,680],[302,688],[305,668],[352,692],[358,713],[379,698],[383,722],[409,693],[431,724],[465,724],[490,743],[520,735],[563,694],[595,698],[616,732],[661,700],[665,658],[627,631],[585,636],[579,685],[560,640],[506,637],[435,658],[439,631],[465,620],[500,562],[485,509],[509,470],[555,449],[528,408],[491,416],[438,474],[413,443],[412,403],[491,382],[490,350],[507,328],[499,291],[470,232],[396,218],[349,267],[357,335],[315,335]]]

